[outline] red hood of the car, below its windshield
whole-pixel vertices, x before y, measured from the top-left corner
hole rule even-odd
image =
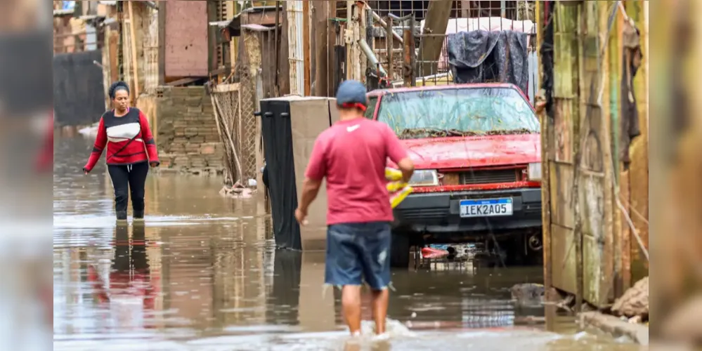
[[[528,164],[541,160],[539,134],[401,140],[416,168]]]

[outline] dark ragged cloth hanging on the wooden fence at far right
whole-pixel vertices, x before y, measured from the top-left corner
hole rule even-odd
[[[639,110],[634,92],[634,77],[641,66],[643,53],[641,51],[639,29],[632,22],[625,21],[623,33],[623,74],[621,80],[621,118],[620,118],[620,161],[624,168],[631,164],[629,147],[632,141],[641,135],[639,126]]]

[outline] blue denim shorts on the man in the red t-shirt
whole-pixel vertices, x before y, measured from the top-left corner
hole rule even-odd
[[[390,284],[390,223],[330,225],[327,230],[325,284],[362,285],[373,290]]]

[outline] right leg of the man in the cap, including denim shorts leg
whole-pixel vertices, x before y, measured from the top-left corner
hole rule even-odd
[[[389,223],[367,223],[368,230],[363,234],[363,275],[373,294],[373,319],[375,333],[385,333],[385,320],[388,313],[390,293],[390,243]]]

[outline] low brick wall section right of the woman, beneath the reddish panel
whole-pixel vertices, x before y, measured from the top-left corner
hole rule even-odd
[[[212,100],[202,86],[158,88],[156,143],[161,168],[192,174],[223,173],[224,150]]]

